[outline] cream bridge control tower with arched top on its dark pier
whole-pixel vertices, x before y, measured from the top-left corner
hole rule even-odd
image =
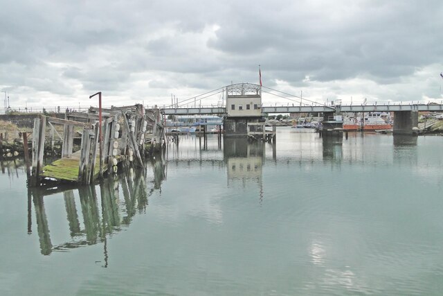
[[[262,87],[239,83],[226,87],[225,137],[246,137],[248,123],[263,122]],[[252,125],[251,132],[260,132],[262,125]]]

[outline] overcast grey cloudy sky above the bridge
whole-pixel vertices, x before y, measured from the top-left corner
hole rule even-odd
[[[258,64],[264,86],[312,101],[442,99],[442,0],[0,1],[12,108],[97,105],[98,91],[167,105],[259,83]]]

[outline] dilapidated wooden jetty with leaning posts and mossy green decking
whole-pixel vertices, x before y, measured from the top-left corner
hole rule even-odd
[[[35,119],[28,186],[53,182],[91,184],[105,173],[116,173],[118,166],[143,167],[145,155],[165,142],[163,117],[158,109],[145,110],[137,104],[102,110],[102,139],[97,111],[91,107],[87,113],[66,112],[66,119],[48,116]],[[60,159],[44,165],[47,125],[51,128],[63,125],[64,132],[63,136],[59,134]],[[80,150],[74,152],[74,139],[78,135]]]

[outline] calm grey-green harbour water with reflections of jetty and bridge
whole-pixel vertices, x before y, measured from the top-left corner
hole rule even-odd
[[[182,136],[52,194],[1,164],[1,295],[443,293],[442,137]]]

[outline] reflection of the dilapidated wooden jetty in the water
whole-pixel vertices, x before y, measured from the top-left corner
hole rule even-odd
[[[104,243],[105,267],[107,266],[107,236],[129,227],[138,213],[144,213],[148,197],[161,188],[165,177],[165,161],[162,155],[152,159],[146,168],[129,168],[115,178],[109,177],[100,185],[77,186],[71,189],[60,186],[55,189],[29,189],[28,194],[28,233],[32,233],[32,203],[34,205],[40,252],[49,255],[54,251],[66,251],[84,245]],[[148,170],[152,171],[148,177]],[[66,222],[57,225],[48,224],[48,215],[58,216],[54,212],[46,213],[45,201],[51,202],[55,196],[62,195]],[[51,211],[56,211],[51,206]],[[51,219],[50,219],[51,220]],[[52,221],[52,220],[51,220]],[[55,223],[54,223],[55,224]],[[51,240],[51,227],[60,232],[60,225],[66,224],[66,239],[63,243]]]

